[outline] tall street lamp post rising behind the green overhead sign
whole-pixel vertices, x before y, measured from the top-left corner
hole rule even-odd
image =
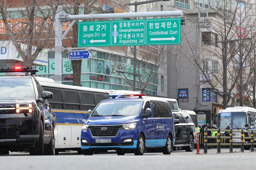
[[[141,4],[148,4],[151,2],[159,2],[159,1],[169,1],[169,0],[148,0],[148,1],[143,1],[143,2],[133,2],[133,3],[129,3],[126,4],[126,6],[131,6],[134,5],[134,12],[137,12],[137,5],[141,5]],[[136,91],[136,53],[137,53],[137,46],[135,45],[133,47],[133,90]]]

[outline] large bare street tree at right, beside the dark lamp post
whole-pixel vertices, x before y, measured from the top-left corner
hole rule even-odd
[[[192,43],[188,36],[188,30],[183,30],[184,46],[177,47],[177,49],[199,68],[207,80],[207,84],[223,97],[223,100],[225,100],[223,91],[227,89],[227,103],[231,100],[231,105],[236,104],[236,95],[239,93],[239,105],[243,105],[244,87],[249,82],[250,74],[247,60],[252,52],[252,41],[248,39],[249,35],[247,34],[250,27],[246,21],[253,12],[247,11],[249,2],[236,1],[234,3],[234,1],[228,0],[223,4],[222,1],[221,3],[216,1],[209,6],[210,10],[216,13],[216,19],[212,18],[210,25],[206,28],[201,27],[200,19],[186,15],[193,21],[194,27],[203,30],[202,45]],[[203,13],[200,8],[199,11]],[[203,18],[208,19],[207,17],[201,19]],[[210,65],[207,60],[214,62]],[[226,77],[225,71],[227,71]],[[227,82],[225,82],[225,78]],[[236,87],[239,88],[238,93],[235,90]]]

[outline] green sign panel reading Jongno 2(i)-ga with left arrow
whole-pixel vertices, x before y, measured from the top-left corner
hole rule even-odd
[[[110,46],[111,21],[79,22],[78,47]]]

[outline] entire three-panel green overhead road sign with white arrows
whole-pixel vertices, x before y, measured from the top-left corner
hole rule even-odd
[[[181,18],[79,22],[78,47],[181,43]]]

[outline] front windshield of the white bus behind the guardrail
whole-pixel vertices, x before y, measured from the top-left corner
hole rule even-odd
[[[219,114],[218,127],[226,129],[229,126],[232,129],[245,129],[247,124],[246,112],[227,112]]]

